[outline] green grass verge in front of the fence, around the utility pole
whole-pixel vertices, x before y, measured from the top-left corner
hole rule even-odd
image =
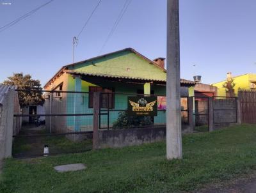
[[[166,160],[166,144],[4,161],[0,192],[191,192],[256,169],[256,125],[184,135],[183,159]],[[60,164],[84,171],[57,173]]]

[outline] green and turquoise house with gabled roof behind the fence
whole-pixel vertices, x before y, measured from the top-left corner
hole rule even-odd
[[[193,96],[195,82],[180,79],[181,95]],[[47,95],[47,114],[88,114],[87,116],[56,116],[46,118],[54,132],[92,130],[93,92],[100,91],[100,107],[110,109],[109,118],[100,116],[100,127],[110,127],[117,111],[127,109],[127,96],[137,94],[166,95],[164,58],[150,60],[127,48],[63,66],[44,86],[45,90],[90,93],[53,93]],[[106,93],[106,94],[104,94]],[[50,100],[52,98],[52,100]],[[109,120],[109,122],[108,122]],[[155,125],[166,123],[166,113],[159,111]]]

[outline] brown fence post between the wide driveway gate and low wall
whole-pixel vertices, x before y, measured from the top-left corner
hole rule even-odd
[[[99,148],[99,110],[100,93],[93,93],[93,150]]]

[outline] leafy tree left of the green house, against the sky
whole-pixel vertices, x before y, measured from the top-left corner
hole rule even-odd
[[[43,105],[44,98],[42,96],[42,87],[39,80],[31,79],[31,75],[23,75],[23,73],[13,73],[12,77],[3,84],[17,86],[17,89],[27,90],[18,91],[20,107],[28,107],[29,105]],[[34,90],[34,91],[28,91]]]

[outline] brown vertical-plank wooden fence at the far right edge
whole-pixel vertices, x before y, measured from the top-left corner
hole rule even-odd
[[[240,90],[238,98],[241,104],[242,123],[256,123],[256,91]]]

